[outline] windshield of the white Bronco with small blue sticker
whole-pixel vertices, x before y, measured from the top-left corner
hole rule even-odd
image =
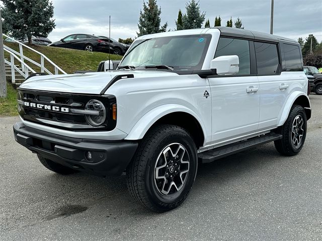
[[[201,69],[211,35],[189,35],[136,41],[120,66],[167,65],[175,70]]]

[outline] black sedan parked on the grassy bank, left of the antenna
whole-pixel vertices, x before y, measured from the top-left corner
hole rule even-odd
[[[111,51],[111,53],[114,53],[114,48],[109,43],[108,39],[90,35],[90,34],[68,35],[67,37],[61,39],[60,41],[49,44],[48,46],[68,48],[68,49],[79,49],[79,50],[86,50],[90,52]]]

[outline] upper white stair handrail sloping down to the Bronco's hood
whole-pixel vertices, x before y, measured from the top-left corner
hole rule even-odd
[[[38,55],[40,55],[40,64],[36,64],[37,66],[39,66],[40,68],[41,68],[41,72],[47,72],[48,74],[52,74],[52,73],[50,73],[49,71],[48,71],[48,69],[46,69],[45,68],[45,66],[44,66],[44,63],[45,63],[45,60],[47,60],[53,67],[54,67],[54,69],[55,69],[55,74],[58,74],[58,71],[60,71],[61,73],[63,73],[63,74],[67,74],[65,71],[63,71],[60,67],[58,67],[54,62],[52,62],[46,55],[44,55],[44,54],[42,54],[42,53],[40,53],[40,52],[38,52],[37,50],[34,50],[33,48],[31,48],[31,47],[29,47],[29,46],[27,46],[27,45],[25,45],[25,44],[23,44],[23,43],[21,43],[21,42],[19,42],[19,41],[17,41],[17,40],[15,40],[15,39],[13,39],[13,38],[11,38],[11,37],[9,37],[9,36],[7,36],[7,35],[5,35],[5,34],[3,34],[3,36],[5,36],[5,37],[7,37],[7,38],[9,38],[9,39],[11,39],[11,40],[13,40],[14,42],[16,42],[16,43],[18,43],[19,44],[19,51],[20,51],[20,53],[18,54],[18,52],[17,51],[15,51],[16,52],[16,54],[20,57],[20,59],[21,59],[21,62],[24,62],[24,60],[27,60],[27,61],[30,61],[30,59],[29,58],[27,58],[26,56],[24,56],[24,53],[23,53],[23,47],[25,47],[25,48],[27,48],[27,49],[29,49],[29,50],[31,50],[31,51],[33,51],[33,52],[35,52],[35,53],[37,53]],[[6,46],[7,47],[7,46]],[[7,49],[8,49],[9,47],[7,47]],[[10,48],[9,48],[10,49]],[[12,51],[12,49],[11,49],[11,51]],[[12,51],[13,52],[13,51]],[[30,62],[32,62],[32,61],[30,61]],[[34,61],[35,62],[35,61]],[[33,64],[34,64],[34,62],[32,62]],[[23,67],[24,68],[24,67]]]

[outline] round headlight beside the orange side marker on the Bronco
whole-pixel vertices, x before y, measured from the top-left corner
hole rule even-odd
[[[91,99],[85,106],[86,110],[93,110],[93,113],[86,114],[86,121],[93,127],[101,126],[106,119],[106,109],[104,104],[96,99]],[[96,111],[96,112],[94,112]]]

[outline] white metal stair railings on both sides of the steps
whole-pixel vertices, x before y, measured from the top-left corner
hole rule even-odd
[[[29,62],[32,63],[33,65],[37,66],[40,68],[41,72],[47,73],[47,74],[53,74],[51,71],[48,70],[48,67],[45,67],[45,60],[46,63],[48,63],[47,65],[49,65],[51,67],[51,69],[54,69],[54,74],[66,74],[65,71],[63,71],[60,67],[58,67],[54,62],[52,62],[47,56],[45,56],[44,54],[38,52],[37,50],[23,44],[20,43],[19,41],[3,34],[3,36],[5,36],[6,38],[11,39],[11,42],[15,42],[19,45],[19,52],[4,45],[4,51],[10,54],[10,61],[6,60],[6,64],[7,66],[11,66],[11,76],[12,76],[12,81],[13,83],[15,83],[15,73],[19,73],[19,75],[23,76],[24,78],[27,78],[29,76],[29,72],[31,73],[35,73],[36,71],[34,71],[28,64],[26,64],[25,62]],[[4,43],[5,44],[5,43]],[[24,48],[25,49],[29,49],[30,51],[36,53],[39,57],[40,57],[40,63],[38,63],[37,61],[28,58],[24,55]],[[17,60],[21,66],[21,69],[15,65],[15,60]]]

